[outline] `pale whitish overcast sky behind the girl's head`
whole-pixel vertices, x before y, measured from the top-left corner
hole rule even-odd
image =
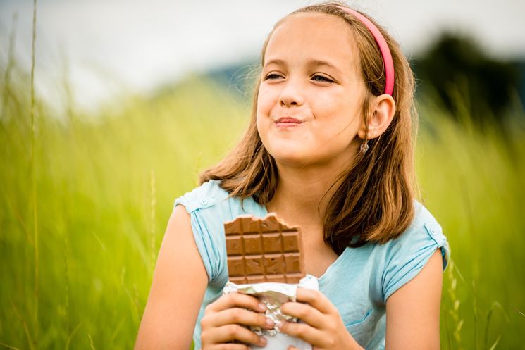
[[[61,104],[96,109],[115,94],[147,93],[192,72],[259,57],[273,23],[305,0],[37,0],[35,85]],[[469,35],[498,58],[525,58],[525,0],[347,1],[369,13],[407,56],[444,30]],[[32,0],[0,0],[0,64],[16,34],[17,61],[30,70]],[[13,15],[18,18],[13,21]]]

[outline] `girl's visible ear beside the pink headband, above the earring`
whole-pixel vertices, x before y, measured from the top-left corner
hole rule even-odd
[[[359,129],[361,139],[375,139],[385,132],[395,115],[395,101],[389,94],[382,94],[373,101],[373,109],[368,119],[368,133],[365,125]],[[367,135],[368,134],[368,135]]]

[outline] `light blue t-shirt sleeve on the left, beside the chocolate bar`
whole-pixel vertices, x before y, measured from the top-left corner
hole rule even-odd
[[[215,280],[224,268],[223,251],[226,249],[223,215],[217,208],[211,208],[221,200],[221,195],[210,188],[212,185],[215,184],[205,183],[175,199],[173,204],[173,208],[178,204],[185,206],[190,214],[193,237],[209,281]]]

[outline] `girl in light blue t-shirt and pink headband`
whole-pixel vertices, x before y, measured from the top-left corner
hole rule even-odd
[[[264,346],[257,299],[226,294],[223,223],[277,213],[302,229],[320,292],[283,305],[314,349],[439,349],[449,247],[414,200],[414,77],[385,30],[345,4],[290,13],[261,54],[245,136],[175,201],[135,349]],[[262,308],[261,308],[262,307]],[[236,341],[236,342],[233,342]],[[272,349],[273,350],[273,349]],[[282,349],[275,349],[282,350]]]

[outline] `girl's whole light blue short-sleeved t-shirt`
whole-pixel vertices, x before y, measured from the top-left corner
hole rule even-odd
[[[201,348],[200,320],[204,308],[222,294],[228,281],[226,241],[223,223],[238,215],[264,217],[266,206],[249,198],[229,198],[216,180],[205,182],[175,200],[190,213],[192,231],[206,273],[208,287],[194,327],[195,349]],[[441,248],[443,270],[450,248],[440,225],[419,202],[405,232],[385,244],[368,243],[347,247],[319,277],[319,289],[338,309],[345,326],[366,350],[385,349],[386,299],[412,280],[436,249]]]

